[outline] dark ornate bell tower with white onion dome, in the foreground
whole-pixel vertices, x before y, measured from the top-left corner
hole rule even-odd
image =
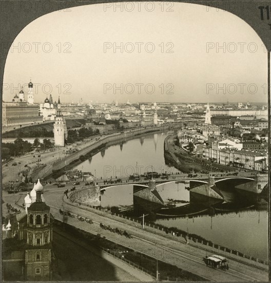
[[[51,280],[52,223],[50,207],[42,201],[43,186],[34,187],[36,200],[27,209],[26,280]]]

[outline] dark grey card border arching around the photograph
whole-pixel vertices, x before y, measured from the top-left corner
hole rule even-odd
[[[0,93],[3,96],[3,77],[4,77],[4,68],[8,55],[9,48],[21,30],[26,27],[29,23],[37,19],[38,17],[45,15],[47,13],[57,11],[60,9],[66,9],[71,7],[91,5],[91,4],[103,4],[103,3],[114,3],[114,2],[143,2],[142,0],[109,0],[109,1],[98,1],[98,0],[2,0],[0,1]],[[147,1],[146,1],[147,2]],[[154,0],[153,2],[161,2],[161,0]],[[267,94],[268,94],[268,152],[270,153],[271,140],[270,140],[270,51],[271,51],[271,1],[259,1],[259,0],[169,0],[168,2],[180,2],[180,3],[190,3],[190,4],[199,4],[206,6],[206,9],[209,7],[219,8],[226,10],[230,13],[235,14],[244,20],[251,28],[253,28],[258,36],[261,38],[267,49]],[[264,13],[264,8],[268,6],[269,19],[267,19],[266,14]],[[22,9],[24,7],[24,9]],[[27,8],[26,8],[27,7]],[[263,8],[260,8],[263,7]],[[29,9],[29,10],[27,10]],[[34,10],[32,12],[32,9]],[[193,16],[193,15],[191,15]],[[2,111],[1,111],[1,120],[2,120]],[[2,158],[1,158],[2,162]],[[271,156],[269,154],[269,166],[271,162]],[[269,200],[271,199],[270,192],[270,174],[268,176],[269,184]],[[2,204],[0,204],[2,207]],[[269,247],[270,245],[270,203],[269,203]],[[270,249],[269,249],[269,280],[271,280],[270,269]]]

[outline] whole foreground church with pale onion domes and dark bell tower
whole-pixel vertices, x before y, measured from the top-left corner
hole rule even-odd
[[[52,280],[55,257],[52,251],[53,216],[43,197],[40,180],[27,193],[25,211],[6,225],[3,239],[3,277],[12,281]]]

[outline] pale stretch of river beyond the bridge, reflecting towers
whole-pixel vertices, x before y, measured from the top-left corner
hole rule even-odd
[[[154,135],[156,136],[155,143]],[[93,155],[91,161],[86,160],[73,168],[82,170],[82,166],[84,166],[84,170],[92,172],[92,174],[96,170],[98,178],[101,176],[103,178],[127,176],[136,172],[143,174],[151,170],[159,173],[163,171],[177,172],[176,168],[167,166],[165,163],[165,137],[166,135],[150,134],[128,140],[125,147],[121,147],[120,144],[110,146],[104,149],[101,154]]]

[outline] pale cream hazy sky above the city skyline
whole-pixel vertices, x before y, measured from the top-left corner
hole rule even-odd
[[[9,50],[3,100],[22,85],[27,93],[31,78],[38,103],[50,93],[66,103],[267,102],[267,53],[239,17],[188,3],[115,4],[25,27]]]

